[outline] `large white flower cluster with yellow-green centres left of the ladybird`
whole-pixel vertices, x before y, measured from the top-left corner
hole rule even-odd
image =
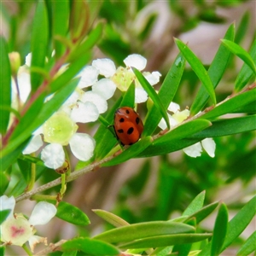
[[[28,55],[26,67],[30,66],[30,60],[31,55]],[[78,75],[80,80],[76,90],[61,108],[34,132],[23,154],[31,154],[41,148],[44,142],[49,143],[43,148],[41,158],[45,166],[57,169],[65,161],[63,146],[69,144],[76,158],[83,161],[90,160],[95,141],[89,134],[77,132],[76,123],[96,121],[101,113],[107,111],[107,101],[113,96],[116,88],[122,91],[128,90],[132,82],[136,84],[135,102],[145,102],[148,99],[148,94],[143,90],[131,69],[136,67],[142,71],[146,67],[147,60],[142,55],[134,54],[125,58],[124,62],[126,67],[116,68],[113,61],[109,59],[97,59],[92,61],[91,65],[84,67]],[[20,68],[24,69],[24,67]],[[104,78],[98,79],[99,75]],[[159,72],[143,73],[143,75],[151,85],[157,84],[160,80]],[[29,80],[28,73],[26,73],[26,79],[20,80],[18,77],[19,85],[22,84],[24,88],[28,88],[26,92],[31,88]],[[26,93],[25,100],[27,96]],[[41,135],[44,135],[44,141]]]

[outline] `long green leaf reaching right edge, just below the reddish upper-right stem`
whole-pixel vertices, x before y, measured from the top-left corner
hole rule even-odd
[[[252,90],[247,90],[244,93],[238,94],[236,96],[232,96],[227,99],[225,102],[219,104],[217,107],[212,108],[209,112],[203,114],[201,118],[203,119],[214,119],[218,116],[221,116],[225,113],[232,113],[243,105],[247,105],[250,102],[255,100],[256,88]]]

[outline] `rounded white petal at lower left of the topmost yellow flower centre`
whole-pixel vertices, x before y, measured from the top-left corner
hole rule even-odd
[[[101,79],[92,86],[92,91],[102,96],[105,100],[110,99],[116,90],[116,85],[110,79]]]

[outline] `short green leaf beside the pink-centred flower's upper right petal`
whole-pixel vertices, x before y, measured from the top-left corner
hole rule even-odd
[[[60,202],[55,216],[75,225],[90,224],[90,219],[83,211],[65,201]]]

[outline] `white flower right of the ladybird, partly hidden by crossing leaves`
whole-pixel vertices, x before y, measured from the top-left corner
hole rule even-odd
[[[189,109],[184,109],[183,111],[180,111],[179,105],[175,102],[171,102],[168,110],[173,113],[172,115],[167,113],[171,127],[175,127],[176,125],[182,123],[183,120],[187,119],[190,114]],[[160,123],[158,124],[158,126],[162,130],[165,130],[167,127],[165,119],[160,119]],[[205,138],[199,143],[195,143],[194,145],[191,145],[187,148],[183,148],[183,151],[190,157],[198,157],[201,156],[202,148],[204,148],[207,151],[207,154],[209,154],[211,157],[215,156],[214,152],[216,144],[212,138]]]

